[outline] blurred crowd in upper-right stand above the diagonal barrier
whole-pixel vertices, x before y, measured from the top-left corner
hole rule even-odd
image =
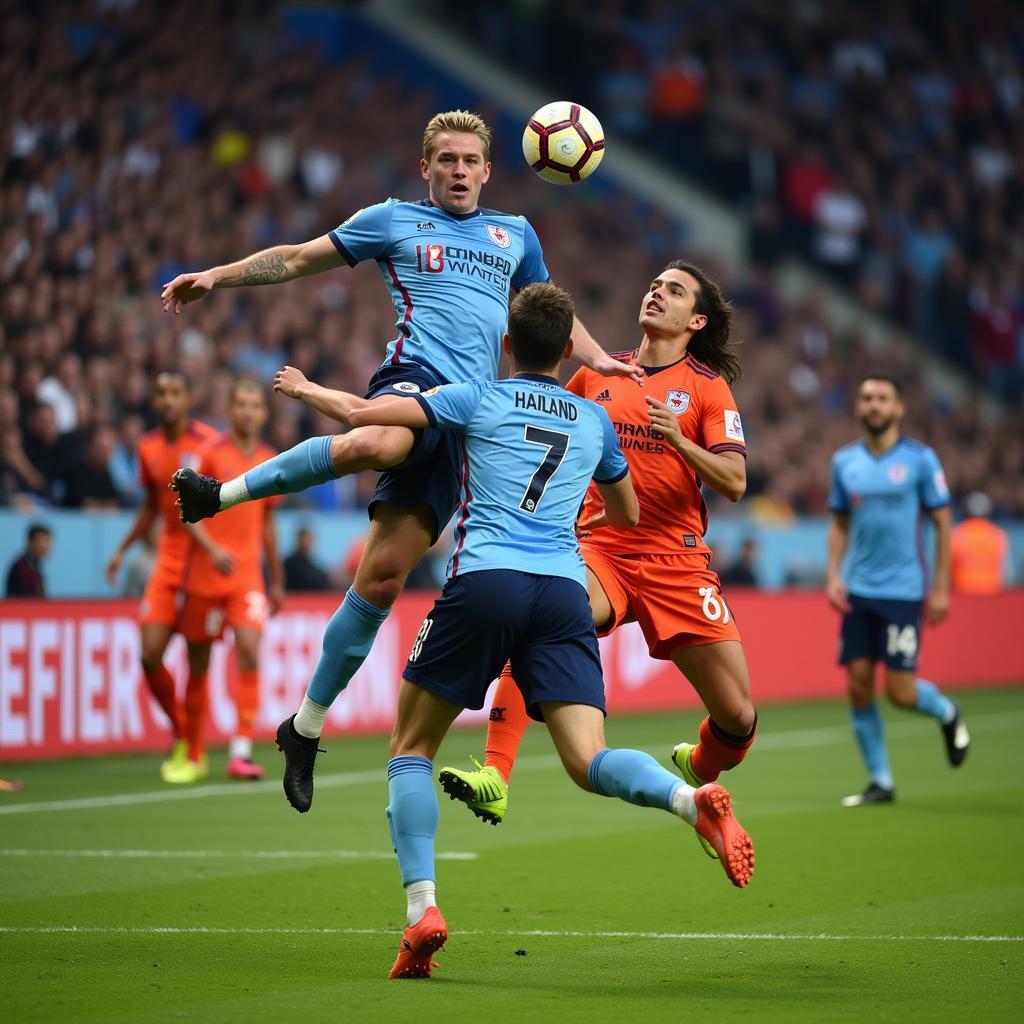
[[[813,259],[1002,398],[1024,398],[1024,5],[431,10],[740,203],[757,260]]]

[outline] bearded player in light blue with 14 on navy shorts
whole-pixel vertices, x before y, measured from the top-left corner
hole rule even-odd
[[[899,432],[899,385],[871,376],[860,385],[856,415],[864,440],[833,457],[828,508],[827,596],[843,613],[840,663],[846,666],[853,731],[867,768],[863,793],[846,807],[891,803],[895,796],[874,667],[899,708],[939,721],[946,756],[963,764],[970,736],[956,706],[934,683],[915,677],[924,612],[938,625],[949,609],[949,490],[935,453]],[[935,534],[935,566],[922,545],[924,517]]]

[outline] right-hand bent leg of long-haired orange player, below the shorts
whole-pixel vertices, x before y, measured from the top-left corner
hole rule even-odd
[[[690,785],[703,785],[735,768],[754,743],[758,716],[743,646],[725,640],[679,647],[672,660],[708,710],[697,743],[679,743],[672,758]]]

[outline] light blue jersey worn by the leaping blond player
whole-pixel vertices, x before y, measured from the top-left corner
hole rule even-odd
[[[385,365],[419,364],[445,382],[494,380],[510,287],[550,280],[526,218],[497,210],[389,199],[329,237],[350,266],[375,259],[384,275],[398,329]]]

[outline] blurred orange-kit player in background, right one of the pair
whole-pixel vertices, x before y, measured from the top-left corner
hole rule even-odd
[[[232,479],[271,458],[273,450],[260,440],[266,418],[266,396],[260,385],[236,381],[228,407],[229,428],[204,450],[199,471]],[[274,614],[284,599],[273,526],[273,508],[280,504],[280,499],[250,502],[210,522],[187,527],[197,548],[185,578],[181,633],[188,643],[189,663],[197,668],[197,680],[185,701],[187,757],[172,770],[168,781],[195,782],[208,773],[203,753],[207,671],[213,642],[220,639],[225,626],[234,634],[238,659],[238,724],[227,774],[248,779],[263,775],[262,767],[252,760],[252,730],[259,707],[260,636],[267,614]],[[263,557],[270,577],[269,599],[263,585]]]

